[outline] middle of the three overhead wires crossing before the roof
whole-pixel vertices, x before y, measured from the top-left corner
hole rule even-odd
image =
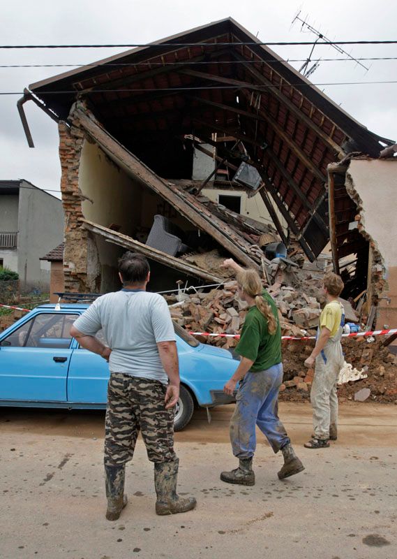
[[[397,57],[371,57],[371,58],[318,58],[310,59],[311,62],[352,62],[360,60],[397,60]],[[289,58],[282,60],[215,60],[215,61],[175,61],[175,62],[124,62],[124,63],[112,63],[105,62],[103,64],[0,64],[0,68],[76,68],[82,66],[92,66],[93,68],[101,67],[103,68],[114,68],[119,66],[179,66],[179,65],[189,65],[195,66],[199,64],[261,64],[262,62],[266,64],[277,64],[278,62],[286,62],[290,64],[291,62],[306,62],[306,58]]]

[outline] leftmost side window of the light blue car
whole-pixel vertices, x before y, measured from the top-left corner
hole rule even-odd
[[[12,347],[68,348],[72,337],[70,328],[76,314],[43,313],[22,324],[2,340],[1,345]]]

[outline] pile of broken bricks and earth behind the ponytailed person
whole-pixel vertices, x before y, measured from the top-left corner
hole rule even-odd
[[[321,309],[325,303],[322,279],[326,266],[305,263],[296,268],[280,259],[267,266],[264,276],[270,283],[267,290],[278,307],[278,316],[283,336],[303,337],[315,335]],[[248,305],[237,298],[237,282],[230,279],[209,292],[198,290],[192,295],[186,292],[165,296],[170,305],[171,316],[180,326],[190,332],[232,334],[241,332]],[[346,320],[357,322],[358,318],[350,303],[343,300]],[[200,342],[213,344],[224,349],[236,347],[238,339],[213,335],[197,335]],[[354,394],[362,388],[370,389],[368,401],[397,401],[397,361],[386,347],[383,338],[343,338],[345,361],[350,363],[365,379],[352,380],[340,385],[341,399],[354,400]],[[310,396],[313,370],[308,370],[304,361],[314,347],[315,340],[284,340],[283,365],[284,383],[280,398],[306,400]]]

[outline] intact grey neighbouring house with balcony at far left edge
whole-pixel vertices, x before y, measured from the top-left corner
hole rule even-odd
[[[20,289],[48,289],[40,256],[63,241],[62,202],[27,180],[0,180],[0,266],[20,275]]]

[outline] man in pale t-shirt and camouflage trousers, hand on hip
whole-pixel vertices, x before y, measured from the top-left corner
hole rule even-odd
[[[85,349],[109,361],[105,421],[107,520],[127,504],[126,462],[142,433],[154,463],[156,513],[194,509],[195,498],[177,495],[179,460],[174,452],[174,406],[179,400],[179,363],[170,311],[158,293],[148,293],[149,263],[126,252],[119,259],[123,289],[107,293],[73,324],[70,333]],[[107,346],[96,337],[102,329]]]

